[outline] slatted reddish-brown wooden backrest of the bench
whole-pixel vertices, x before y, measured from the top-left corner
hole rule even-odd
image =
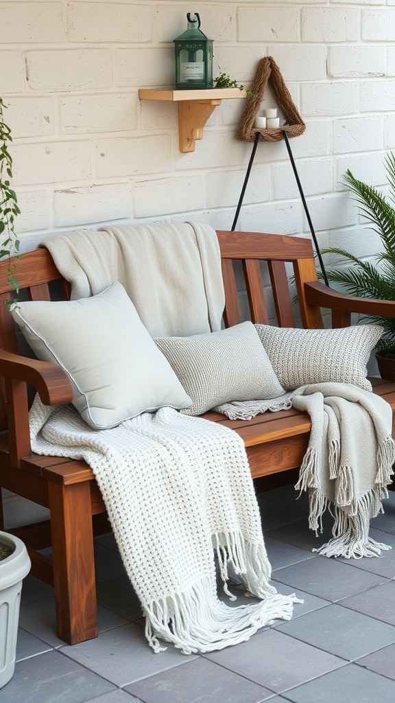
[[[286,263],[290,262],[293,265],[302,325],[305,328],[323,327],[320,308],[308,305],[304,295],[304,283],[317,280],[313,248],[309,239],[260,232],[230,231],[218,231],[217,236],[226,292],[224,311],[226,326],[238,324],[243,319],[239,300],[240,288],[245,288],[247,291],[252,322],[268,323],[266,299],[268,288],[271,288],[278,325],[294,327],[292,295],[286,270]],[[241,284],[235,276],[234,262],[241,262],[242,265]],[[261,262],[267,262],[269,278],[267,283],[262,277]],[[18,259],[11,260],[11,264],[15,265],[15,277],[20,286],[21,299],[23,297],[30,300],[51,300],[53,299],[51,289],[55,282],[57,282],[56,299],[70,298],[70,285],[60,276],[46,248],[21,254]],[[18,354],[20,350],[15,325],[8,307],[4,304],[15,295],[15,291],[8,283],[8,266],[7,259],[0,261],[0,347],[7,352]],[[2,384],[0,384],[0,396],[4,401],[1,386]],[[6,420],[0,418],[0,429],[4,427],[6,427]]]

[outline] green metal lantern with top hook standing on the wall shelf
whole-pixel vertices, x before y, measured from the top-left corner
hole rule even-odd
[[[176,88],[212,88],[212,39],[200,31],[200,17],[188,12],[188,29],[174,39]]]

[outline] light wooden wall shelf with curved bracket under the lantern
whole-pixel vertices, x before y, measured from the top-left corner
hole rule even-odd
[[[173,90],[141,88],[141,100],[165,100],[179,103],[180,151],[195,151],[195,141],[202,139],[203,129],[216,105],[224,98],[245,98],[245,90],[238,88],[207,88],[203,90]]]

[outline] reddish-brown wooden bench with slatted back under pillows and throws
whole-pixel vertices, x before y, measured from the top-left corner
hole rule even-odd
[[[292,262],[302,324],[322,328],[320,307],[332,310],[332,326],[350,324],[351,311],[395,316],[395,304],[352,298],[330,290],[316,276],[313,249],[308,239],[263,233],[219,231],[227,326],[242,321],[233,261],[242,262],[252,321],[267,323],[260,261],[267,262],[278,325],[295,326],[285,262]],[[22,254],[15,262],[20,288],[33,300],[70,297],[46,249]],[[238,264],[240,266],[240,264]],[[8,262],[0,262],[1,301],[13,296],[7,280]],[[59,299],[57,297],[57,299]],[[32,574],[55,589],[58,636],[68,643],[96,637],[96,583],[93,536],[109,531],[105,507],[91,468],[83,461],[32,454],[29,438],[28,385],[39,392],[44,404],[68,403],[70,381],[58,366],[28,359],[18,353],[11,315],[0,306],[0,485],[46,506],[51,520],[13,530],[25,541],[32,560]],[[375,380],[375,392],[395,408],[395,384]],[[207,413],[207,419],[228,425],[245,441],[252,477],[276,474],[299,467],[309,438],[309,416],[294,409],[265,413],[250,421],[228,420]],[[0,511],[0,520],[2,515]],[[51,546],[52,558],[38,550]]]

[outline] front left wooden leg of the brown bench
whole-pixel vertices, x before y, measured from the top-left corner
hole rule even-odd
[[[89,482],[49,483],[58,637],[71,645],[98,636]]]

